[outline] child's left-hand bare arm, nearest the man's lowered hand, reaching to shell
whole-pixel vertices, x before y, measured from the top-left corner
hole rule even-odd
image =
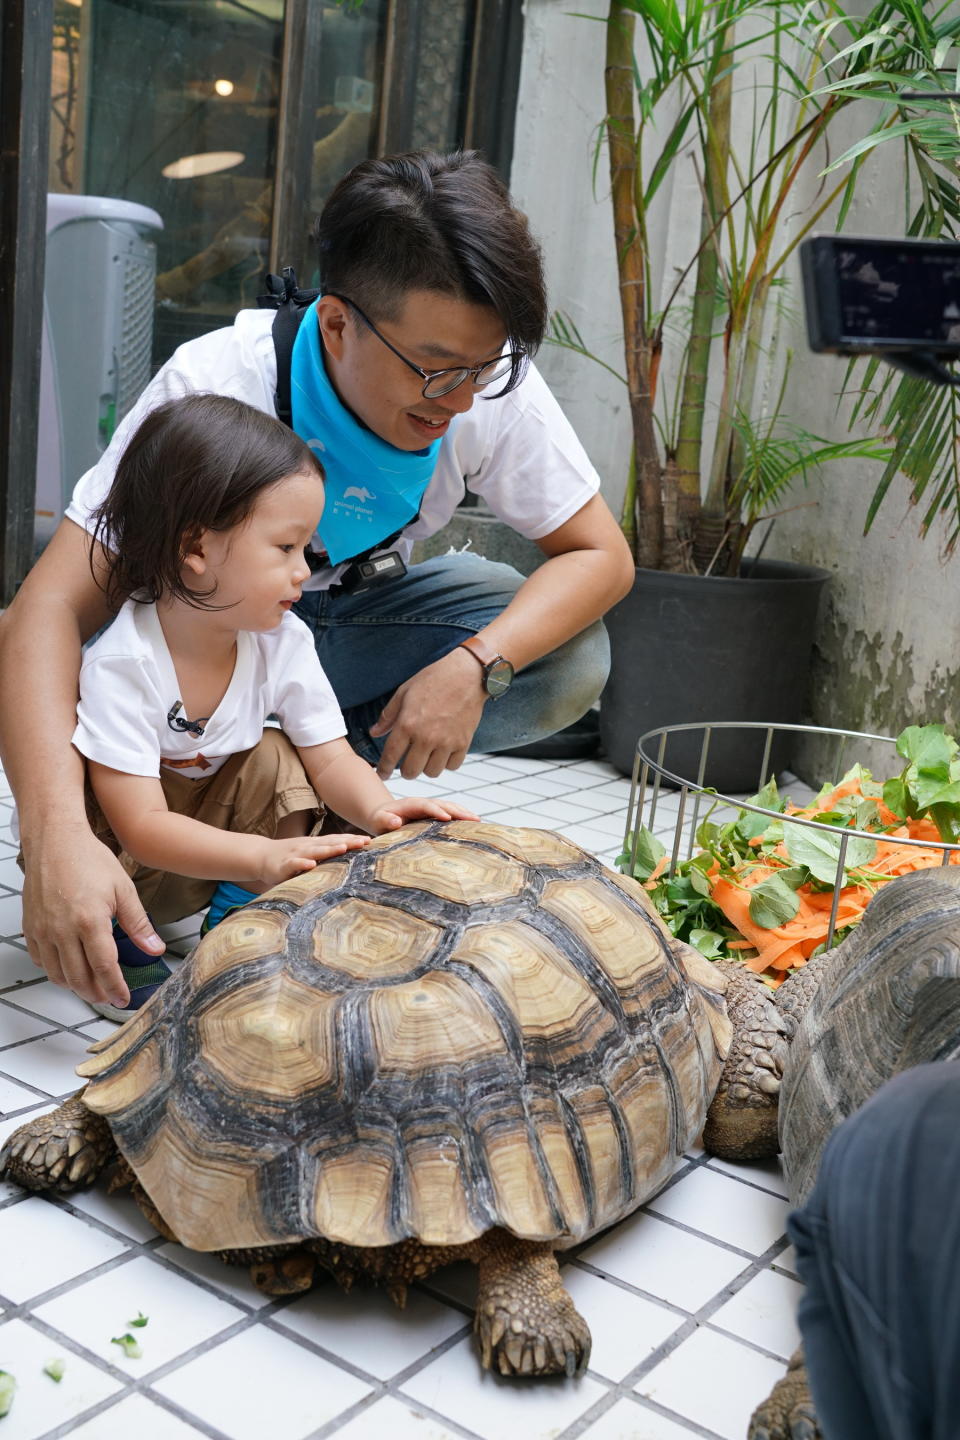
[[[217,829],[168,811],[157,779],[112,770],[95,760],[88,766],[94,793],[117,840],[127,854],[154,870],[269,890],[330,855],[366,844],[361,835],[266,840]]]

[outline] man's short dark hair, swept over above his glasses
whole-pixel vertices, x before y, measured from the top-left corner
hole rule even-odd
[[[314,236],[325,294],[396,320],[412,289],[489,305],[528,357],[547,328],[540,246],[527,216],[475,150],[363,160],[327,200]],[[524,372],[518,361],[501,393]]]

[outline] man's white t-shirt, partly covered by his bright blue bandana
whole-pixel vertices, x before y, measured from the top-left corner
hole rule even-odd
[[[276,415],[273,317],[272,310],[242,310],[227,328],[180,346],[117,426],[98,464],[81,477],[66,516],[92,530],[92,513],[107,497],[127,441],[164,400],[212,392]],[[453,418],[440,441],[420,514],[391,549],[409,559],[415,540],[436,534],[449,521],[465,488],[528,540],[551,534],[600,488],[583,445],[533,366],[510,395],[491,400],[478,396],[466,413]],[[338,570],[318,570],[304,589],[325,589]]]

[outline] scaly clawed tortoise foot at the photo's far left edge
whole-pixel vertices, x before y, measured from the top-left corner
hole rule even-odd
[[[86,1109],[79,1090],[13,1132],[0,1151],[0,1174],[26,1189],[69,1195],[91,1185],[115,1153],[107,1120]]]

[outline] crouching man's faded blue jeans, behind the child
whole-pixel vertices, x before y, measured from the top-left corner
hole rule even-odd
[[[386,739],[374,740],[370,726],[394,690],[495,619],[522,583],[511,566],[463,552],[423,560],[360,595],[307,590],[296,613],[314,632],[354,750],[376,765]],[[563,730],[599,697],[609,668],[597,621],[488,701],[471,750],[507,750]]]

